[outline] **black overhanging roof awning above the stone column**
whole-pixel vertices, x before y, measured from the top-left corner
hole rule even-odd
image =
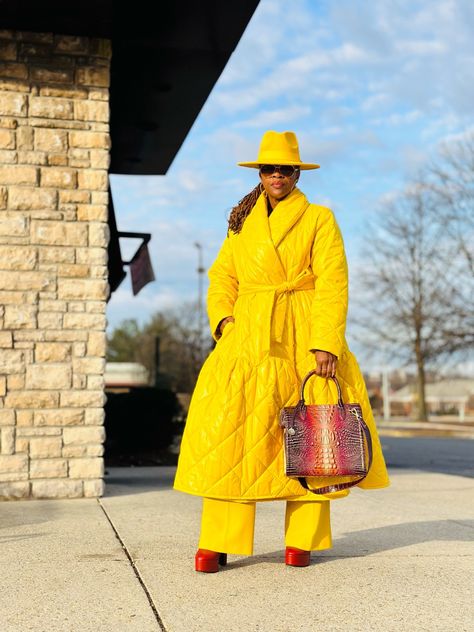
[[[112,40],[112,173],[166,173],[258,0],[0,0],[0,29]],[[155,17],[156,16],[156,17]]]

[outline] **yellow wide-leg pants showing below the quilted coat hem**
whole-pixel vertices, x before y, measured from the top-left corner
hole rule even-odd
[[[305,551],[332,546],[329,500],[286,502],[285,546]],[[199,548],[252,555],[255,502],[203,498]]]

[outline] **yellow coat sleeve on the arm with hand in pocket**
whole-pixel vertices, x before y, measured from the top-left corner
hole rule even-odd
[[[232,316],[237,300],[239,282],[232,255],[232,238],[226,237],[216,260],[209,268],[207,291],[207,313],[214,340],[220,335],[217,326],[226,316]]]

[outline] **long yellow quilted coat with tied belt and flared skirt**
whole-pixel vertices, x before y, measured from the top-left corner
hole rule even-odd
[[[227,500],[326,496],[307,492],[284,473],[279,411],[298,401],[302,378],[315,368],[310,349],[339,359],[345,402],[359,402],[374,458],[362,488],[389,484],[365,384],[344,337],[347,265],[332,212],[294,189],[268,217],[263,194],[239,234],[232,232],[209,270],[208,313],[217,340],[205,361],[183,434],[175,489]],[[307,403],[333,403],[331,380],[312,377]],[[316,488],[350,478],[310,478]]]

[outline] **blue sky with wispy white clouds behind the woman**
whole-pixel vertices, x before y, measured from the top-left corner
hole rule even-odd
[[[334,210],[355,270],[380,201],[472,130],[473,33],[472,0],[261,0],[168,173],[111,177],[119,229],[153,235],[157,280],[136,297],[123,281],[109,330],[197,299],[194,243],[208,268],[257,183],[236,163],[267,129],[295,131],[302,159],[321,165],[299,185]]]

